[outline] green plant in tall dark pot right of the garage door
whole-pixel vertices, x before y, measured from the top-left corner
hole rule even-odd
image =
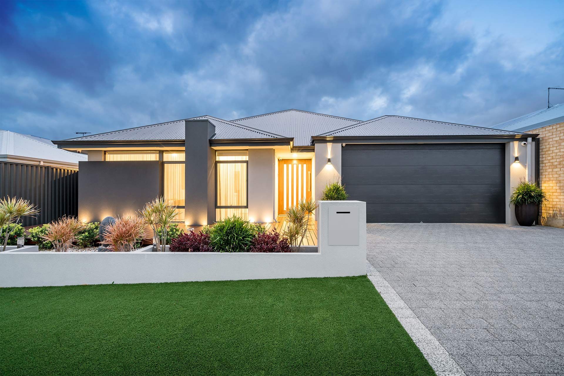
[[[539,218],[539,205],[547,201],[547,194],[538,184],[522,181],[509,198],[515,205],[515,217],[522,226],[531,226]]]

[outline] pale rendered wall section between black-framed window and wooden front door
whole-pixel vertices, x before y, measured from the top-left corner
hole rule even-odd
[[[274,220],[274,149],[249,149],[249,220]]]

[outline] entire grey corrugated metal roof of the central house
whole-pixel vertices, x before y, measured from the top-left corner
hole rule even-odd
[[[417,119],[405,116],[381,116],[368,121],[289,109],[258,116],[241,118],[233,121],[212,116],[193,117],[186,120],[206,119],[215,126],[213,140],[256,140],[280,139],[285,142],[293,139],[294,147],[309,146],[312,140],[330,136],[513,136],[518,132],[490,129]],[[87,135],[62,141],[55,141],[59,147],[69,145],[100,144],[104,141],[134,141],[142,145],[144,141],[174,141],[179,144],[185,140],[185,121],[177,120],[135,127],[95,135]]]

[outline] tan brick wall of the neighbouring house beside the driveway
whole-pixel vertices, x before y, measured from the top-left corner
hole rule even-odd
[[[548,196],[540,209],[540,223],[564,228],[564,123],[527,132],[540,138],[539,182]]]

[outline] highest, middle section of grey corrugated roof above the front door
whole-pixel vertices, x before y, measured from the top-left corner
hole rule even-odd
[[[304,146],[310,145],[312,135],[356,124],[359,120],[290,109],[232,122],[293,137],[294,146]]]

